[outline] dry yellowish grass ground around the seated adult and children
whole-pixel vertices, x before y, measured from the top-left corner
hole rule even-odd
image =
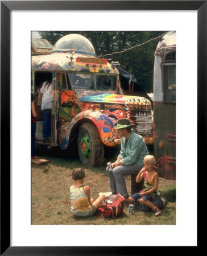
[[[162,210],[158,217],[154,212],[128,213],[128,205],[125,204],[124,213],[113,218],[91,218],[73,217],[69,204],[69,187],[73,184],[71,177],[73,168],[81,167],[85,170],[85,185],[91,188],[94,198],[99,192],[109,192],[109,177],[106,175],[106,163],[113,162],[117,152],[109,152],[106,155],[105,163],[102,167],[86,168],[82,166],[77,156],[68,158],[65,152],[52,156],[47,150],[38,151],[40,158],[48,159],[49,163],[38,166],[32,163],[32,224],[33,225],[175,225],[176,224],[176,203],[175,203],[175,183],[176,181],[159,178],[158,190],[167,197],[167,208]],[[46,154],[45,154],[46,153]],[[61,154],[61,156],[59,155]],[[113,155],[111,157],[111,155]],[[127,190],[131,193],[130,176],[126,176]]]

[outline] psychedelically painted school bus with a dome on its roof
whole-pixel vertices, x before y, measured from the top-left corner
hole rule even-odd
[[[144,97],[123,95],[115,63],[96,57],[84,36],[59,39],[49,55],[32,56],[32,91],[38,113],[36,143],[41,144],[43,113],[38,90],[52,77],[51,147],[67,149],[77,141],[85,166],[100,165],[105,147],[121,139],[114,124],[121,118],[134,123],[134,131],[153,144],[152,106]]]

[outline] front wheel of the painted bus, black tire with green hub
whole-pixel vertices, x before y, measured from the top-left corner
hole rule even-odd
[[[77,147],[84,166],[101,166],[104,162],[104,146],[98,130],[92,123],[82,123],[80,126]]]

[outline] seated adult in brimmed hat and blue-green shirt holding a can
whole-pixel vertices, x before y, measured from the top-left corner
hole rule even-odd
[[[121,151],[117,160],[111,164],[113,168],[109,171],[106,168],[107,175],[110,179],[110,188],[113,193],[119,193],[125,200],[129,199],[127,193],[125,175],[136,175],[144,167],[143,159],[149,154],[147,146],[142,136],[135,134],[131,130],[130,120],[127,118],[119,119],[114,125],[122,138]]]

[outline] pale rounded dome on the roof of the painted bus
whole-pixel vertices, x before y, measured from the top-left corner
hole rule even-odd
[[[78,34],[69,34],[60,38],[53,47],[52,52],[69,51],[73,48],[76,49],[76,52],[96,56],[92,43],[85,36]]]

